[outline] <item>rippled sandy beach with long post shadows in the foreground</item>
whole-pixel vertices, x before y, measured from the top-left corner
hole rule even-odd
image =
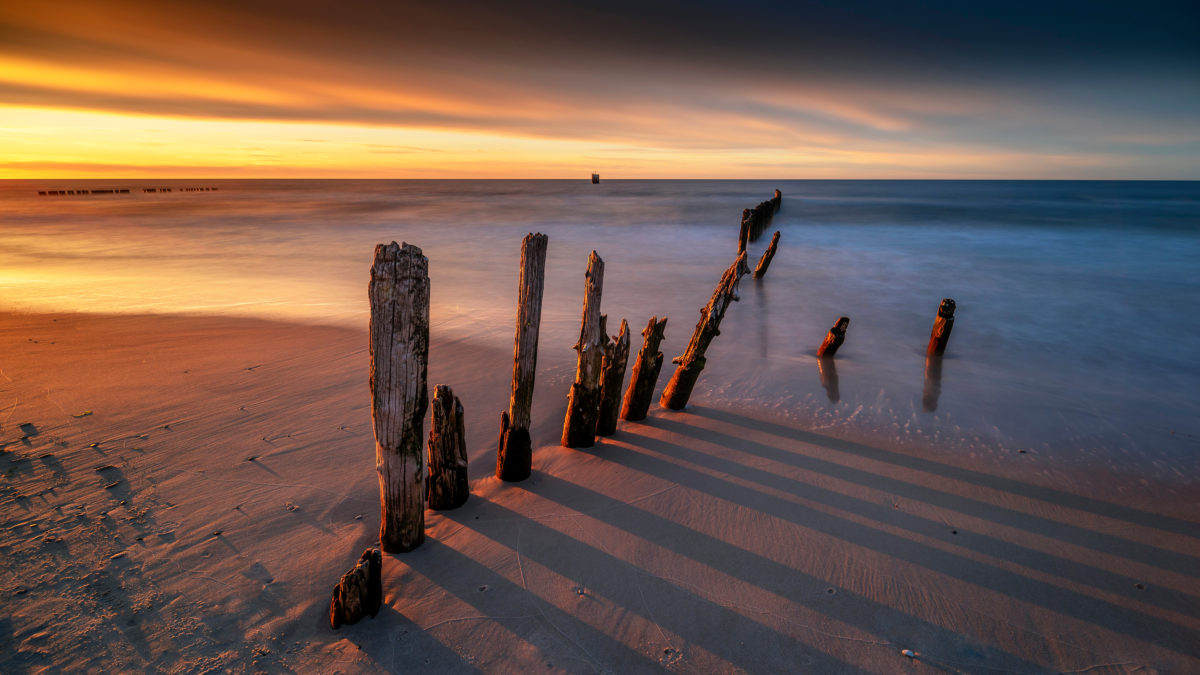
[[[6,673],[1200,669],[1187,480],[881,447],[703,395],[565,449],[552,365],[534,474],[502,484],[511,354],[437,331],[472,497],[384,556],[377,617],[331,631],[379,524],[365,330],[5,313],[0,353]]]

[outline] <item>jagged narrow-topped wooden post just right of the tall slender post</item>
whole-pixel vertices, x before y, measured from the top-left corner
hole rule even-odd
[[[562,443],[568,448],[595,444],[596,416],[600,413],[600,366],[604,360],[604,327],[600,323],[600,293],[604,291],[604,261],[595,251],[588,256],[583,285],[583,319],[580,341],[575,344],[578,363],[575,383],[566,398]]]

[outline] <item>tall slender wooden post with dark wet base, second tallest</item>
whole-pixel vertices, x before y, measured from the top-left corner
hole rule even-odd
[[[517,282],[517,330],[512,346],[512,394],[509,411],[500,413],[500,440],[496,450],[496,477],[524,480],[533,470],[529,412],[538,370],[538,329],[541,292],[546,279],[545,234],[527,234],[521,243],[521,279]]]

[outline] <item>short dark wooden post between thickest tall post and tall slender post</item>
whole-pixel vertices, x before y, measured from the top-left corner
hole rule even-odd
[[[433,423],[430,425],[430,477],[426,501],[433,510],[458,508],[470,496],[467,480],[467,426],[462,402],[445,384],[433,388]]]

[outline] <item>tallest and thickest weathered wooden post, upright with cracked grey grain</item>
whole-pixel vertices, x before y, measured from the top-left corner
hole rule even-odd
[[[376,246],[371,265],[371,419],[379,472],[379,544],[410,551],[425,538],[425,464],[428,407],[428,259],[410,244]]]

